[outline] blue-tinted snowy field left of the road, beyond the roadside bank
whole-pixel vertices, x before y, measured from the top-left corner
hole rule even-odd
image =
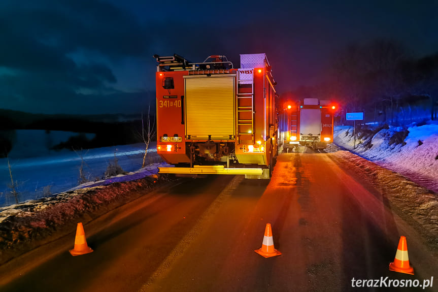
[[[23,149],[24,156],[29,156],[29,152],[24,150],[29,147],[22,143],[18,144],[18,149]],[[68,150],[60,152],[47,151],[47,149],[38,145],[35,148],[40,148],[39,153],[45,155],[18,158],[19,152],[13,149],[11,151],[13,155],[9,158],[12,176],[16,182],[16,190],[20,194],[21,202],[39,199],[75,188],[78,185],[79,169],[82,161],[84,175],[90,181],[100,181],[104,178],[108,165],[114,163],[114,155],[116,155],[117,163],[123,171],[127,173],[138,171],[142,166],[145,149],[144,144],[141,143],[88,149],[79,152]],[[30,149],[30,153],[37,155],[36,149]],[[81,155],[83,159],[81,159]],[[157,156],[156,142],[151,142],[146,158],[147,164],[157,162],[159,160]],[[145,170],[143,170],[144,175],[148,175],[150,172],[156,173],[157,171],[149,170],[145,173]],[[112,181],[115,181],[115,179]],[[100,184],[104,183],[100,182]],[[0,159],[0,206],[15,203],[15,199],[10,196],[10,185],[8,160],[2,158]]]

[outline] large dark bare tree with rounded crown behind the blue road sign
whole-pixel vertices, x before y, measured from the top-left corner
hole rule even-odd
[[[378,107],[394,120],[394,109],[406,93],[401,74],[405,48],[393,40],[353,44],[338,52],[329,72],[329,84],[345,103],[346,110]]]

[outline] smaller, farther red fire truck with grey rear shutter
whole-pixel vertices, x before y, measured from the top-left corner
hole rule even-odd
[[[283,143],[283,150],[297,146],[325,149],[333,142],[335,110],[334,103],[318,99],[286,103],[279,116],[279,141]]]

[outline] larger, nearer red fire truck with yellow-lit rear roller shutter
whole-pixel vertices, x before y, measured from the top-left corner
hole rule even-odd
[[[158,56],[157,152],[159,173],[245,174],[269,178],[277,153],[275,85],[265,54],[225,56],[192,63]]]

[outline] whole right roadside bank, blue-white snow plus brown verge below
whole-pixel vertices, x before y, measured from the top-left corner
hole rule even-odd
[[[335,146],[327,152],[364,174],[399,215],[416,221],[425,238],[438,246],[438,122],[364,126],[356,129],[356,148],[353,127],[336,126],[334,131],[334,143],[359,156]]]

